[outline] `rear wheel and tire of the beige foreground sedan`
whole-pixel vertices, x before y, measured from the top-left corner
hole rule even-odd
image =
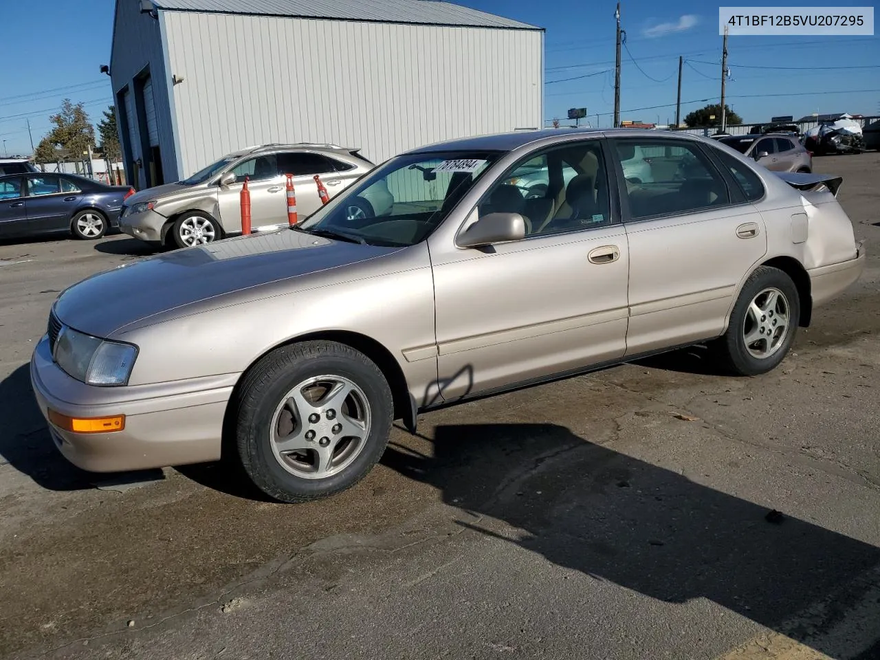
[[[779,268],[761,266],[746,280],[727,332],[716,342],[722,362],[741,376],[774,370],[795,341],[801,301]]]

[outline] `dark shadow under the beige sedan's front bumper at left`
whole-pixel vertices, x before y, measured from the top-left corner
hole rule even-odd
[[[85,490],[156,480],[161,471],[99,474],[80,470],[55,447],[31,389],[30,365],[0,381],[0,466],[9,465],[48,490]]]

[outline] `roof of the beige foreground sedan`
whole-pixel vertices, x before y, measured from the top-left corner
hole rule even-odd
[[[567,136],[609,136],[609,137],[675,137],[702,141],[702,136],[675,131],[651,130],[649,128],[539,128],[537,130],[517,130],[509,133],[493,133],[485,136],[461,137],[433,144],[426,144],[407,154],[430,153],[433,151],[512,151],[525,144],[539,142],[553,137]]]

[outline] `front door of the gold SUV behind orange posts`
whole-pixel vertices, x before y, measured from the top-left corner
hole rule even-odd
[[[275,154],[248,158],[236,165],[232,172],[236,175],[235,183],[220,187],[217,193],[220,223],[225,232],[235,234],[241,231],[241,188],[245,177],[251,194],[251,227],[287,223],[284,177],[278,171]]]

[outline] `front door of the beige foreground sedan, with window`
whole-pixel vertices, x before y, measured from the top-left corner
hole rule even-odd
[[[598,138],[532,152],[463,225],[518,213],[524,239],[462,249],[449,233],[429,238],[444,400],[623,356],[629,251],[605,163]],[[576,172],[568,180],[567,168]],[[517,185],[533,180],[546,187]]]

